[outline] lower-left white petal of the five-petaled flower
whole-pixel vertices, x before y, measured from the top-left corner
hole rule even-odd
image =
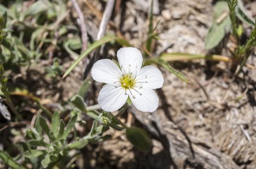
[[[128,99],[125,89],[121,86],[106,84],[100,90],[98,102],[100,107],[107,112],[114,112],[120,109]]]

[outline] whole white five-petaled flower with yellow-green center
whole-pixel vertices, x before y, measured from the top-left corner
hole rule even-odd
[[[117,51],[120,67],[110,59],[102,59],[92,66],[92,78],[107,83],[100,91],[98,102],[107,112],[120,109],[130,97],[142,112],[153,112],[159,99],[152,89],[163,86],[164,78],[155,66],[144,66],[140,51],[125,47]]]

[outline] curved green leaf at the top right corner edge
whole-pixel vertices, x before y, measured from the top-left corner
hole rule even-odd
[[[237,17],[243,21],[244,23],[250,25],[250,26],[254,26],[254,19],[252,17],[250,17],[249,15],[246,14],[245,8],[242,5],[242,1],[241,0],[237,0],[237,6],[236,6],[236,15]]]

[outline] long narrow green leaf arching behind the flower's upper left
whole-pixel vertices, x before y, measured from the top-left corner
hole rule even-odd
[[[101,39],[99,39],[98,41],[96,42],[93,42],[91,46],[89,46],[87,48],[87,50],[85,50],[79,57],[78,59],[76,59],[74,61],[74,63],[72,63],[72,65],[69,67],[69,69],[67,69],[67,71],[64,73],[64,75],[62,76],[62,78],[65,78],[70,72],[72,69],[75,68],[76,65],[78,65],[78,63],[83,60],[84,57],[86,57],[90,52],[92,52],[93,50],[95,50],[96,48],[100,47],[101,45],[104,45],[105,43],[108,43],[110,41],[117,41],[118,43],[122,43],[124,45],[128,45],[128,46],[131,46],[128,42],[127,43],[124,43],[125,40],[124,39],[121,39],[121,38],[118,38],[118,37],[115,37],[115,36],[112,36],[112,35],[108,35],[108,36],[105,36]],[[122,45],[120,44],[120,45]]]

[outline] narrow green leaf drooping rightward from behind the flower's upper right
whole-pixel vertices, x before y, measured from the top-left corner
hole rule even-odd
[[[177,77],[182,79],[182,81],[186,82],[187,84],[190,84],[189,81],[187,81],[187,79],[185,78],[185,76],[183,74],[181,74],[180,72],[178,72],[177,70],[175,70],[172,66],[170,66],[167,63],[167,61],[165,61],[163,59],[156,58],[156,59],[147,60],[147,62],[145,64],[149,64],[149,63],[156,63],[158,65],[163,66],[165,69],[169,70],[170,73],[177,75]]]

